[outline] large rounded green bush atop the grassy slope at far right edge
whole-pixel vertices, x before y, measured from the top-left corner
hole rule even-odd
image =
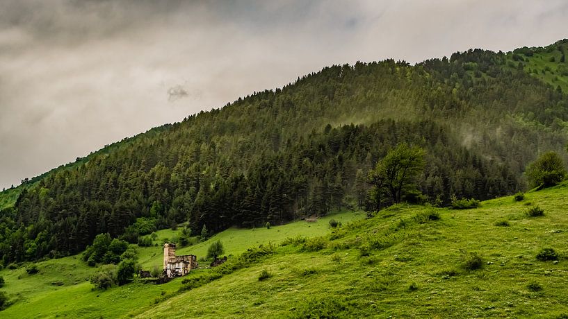
[[[535,162],[528,164],[525,171],[531,187],[551,187],[566,178],[567,172],[562,157],[556,152],[546,152]]]

